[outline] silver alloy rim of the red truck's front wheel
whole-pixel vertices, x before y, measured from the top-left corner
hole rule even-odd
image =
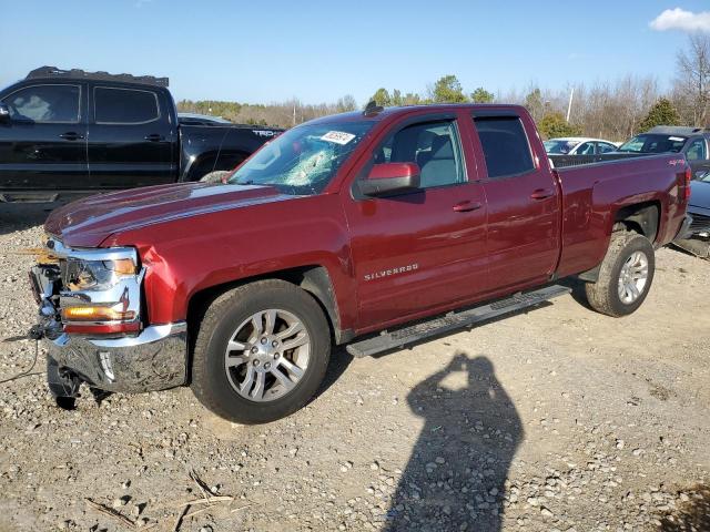
[[[286,310],[256,313],[230,338],[224,369],[232,388],[250,401],[273,401],[285,396],[308,367],[308,331]]]

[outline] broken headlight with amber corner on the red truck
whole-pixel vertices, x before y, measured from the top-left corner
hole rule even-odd
[[[112,260],[83,260],[68,258],[63,275],[69,290],[108,290],[122,277],[138,273],[138,265],[131,258]]]

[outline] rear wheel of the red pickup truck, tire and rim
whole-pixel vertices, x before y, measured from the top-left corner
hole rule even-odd
[[[599,278],[585,286],[587,300],[598,313],[628,316],[646,299],[655,270],[653,246],[648,238],[628,231],[615,232]]]

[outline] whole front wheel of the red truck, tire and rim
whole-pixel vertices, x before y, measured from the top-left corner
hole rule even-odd
[[[191,388],[229,421],[275,421],[313,397],[329,355],[331,331],[316,300],[291,283],[260,280],[223,294],[207,308]]]

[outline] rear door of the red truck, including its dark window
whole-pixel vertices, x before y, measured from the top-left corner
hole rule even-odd
[[[486,165],[490,288],[544,283],[557,266],[560,207],[557,183],[526,133],[535,125],[528,116],[491,111],[474,114],[474,125]]]

